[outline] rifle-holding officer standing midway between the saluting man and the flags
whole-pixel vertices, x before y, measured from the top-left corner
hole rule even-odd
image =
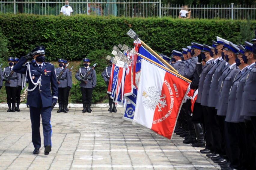
[[[83,102],[83,113],[88,112],[91,113],[91,102],[92,102],[92,93],[93,89],[96,86],[96,72],[92,68],[89,67],[90,59],[83,58],[84,67],[80,67],[77,73],[75,74],[75,78],[80,82],[81,92],[82,92],[82,102]],[[88,72],[90,73],[88,74]],[[86,77],[87,76],[87,77]],[[85,79],[86,78],[86,79]]]

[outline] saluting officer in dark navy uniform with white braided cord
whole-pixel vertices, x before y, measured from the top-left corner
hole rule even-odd
[[[43,133],[44,133],[44,154],[48,155],[51,151],[51,108],[58,99],[58,85],[54,66],[44,62],[45,48],[39,46],[32,50],[31,53],[20,58],[20,61],[14,66],[14,71],[26,74],[28,78],[28,97],[27,105],[29,105],[30,119],[32,124],[32,143],[35,147],[33,154],[38,154],[41,148],[40,137],[40,115],[42,117]],[[36,62],[24,65],[27,60],[35,59]]]

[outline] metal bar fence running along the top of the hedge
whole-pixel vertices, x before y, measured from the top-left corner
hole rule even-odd
[[[0,13],[59,15],[64,0],[5,0],[0,1]],[[161,0],[73,0],[69,5],[72,15],[87,14],[118,17],[173,17],[177,18],[182,5],[161,4]],[[255,20],[255,5],[187,5],[192,19]]]

